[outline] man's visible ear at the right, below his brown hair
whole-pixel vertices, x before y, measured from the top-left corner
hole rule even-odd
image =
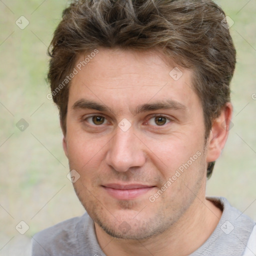
[[[223,149],[228,131],[231,128],[232,105],[226,103],[220,112],[220,115],[213,120],[207,145],[207,162],[215,161]]]

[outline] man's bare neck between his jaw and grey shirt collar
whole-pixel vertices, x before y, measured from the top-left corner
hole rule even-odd
[[[204,196],[202,199],[196,197],[171,228],[145,240],[113,238],[97,223],[94,224],[98,243],[106,256],[183,256],[189,255],[207,240],[216,228],[221,213],[221,210]]]

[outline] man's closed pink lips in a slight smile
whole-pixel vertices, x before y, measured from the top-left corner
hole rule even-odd
[[[112,197],[121,200],[131,200],[143,195],[155,186],[144,184],[104,184],[103,189]]]

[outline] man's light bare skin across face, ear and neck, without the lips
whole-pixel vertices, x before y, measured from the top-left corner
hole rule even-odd
[[[70,170],[80,175],[73,183],[76,194],[107,256],[188,255],[221,216],[205,199],[206,167],[224,147],[228,128],[223,123],[228,127],[232,106],[222,108],[205,142],[192,70],[179,67],[183,74],[175,81],[169,75],[175,64],[167,64],[159,52],[98,49],[69,90],[63,148]],[[167,100],[175,107],[136,112],[142,104]],[[88,101],[108,109],[91,109]],[[131,124],[126,131],[118,126],[123,118]],[[168,178],[198,151],[200,156],[166,188]],[[118,199],[106,192],[102,185],[107,183],[152,187],[135,198]],[[151,202],[149,196],[164,183],[165,191]]]

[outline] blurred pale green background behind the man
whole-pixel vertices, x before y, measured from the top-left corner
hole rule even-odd
[[[256,219],[256,0],[216,2],[234,21],[237,65],[231,84],[233,127],[207,195],[225,196]],[[57,108],[46,98],[46,50],[67,4],[0,0],[0,254],[84,211],[66,177]],[[20,16],[29,21],[23,29],[17,25],[25,25]],[[29,125],[24,131],[16,126],[21,118]],[[15,229],[21,220],[29,226],[23,235]]]

